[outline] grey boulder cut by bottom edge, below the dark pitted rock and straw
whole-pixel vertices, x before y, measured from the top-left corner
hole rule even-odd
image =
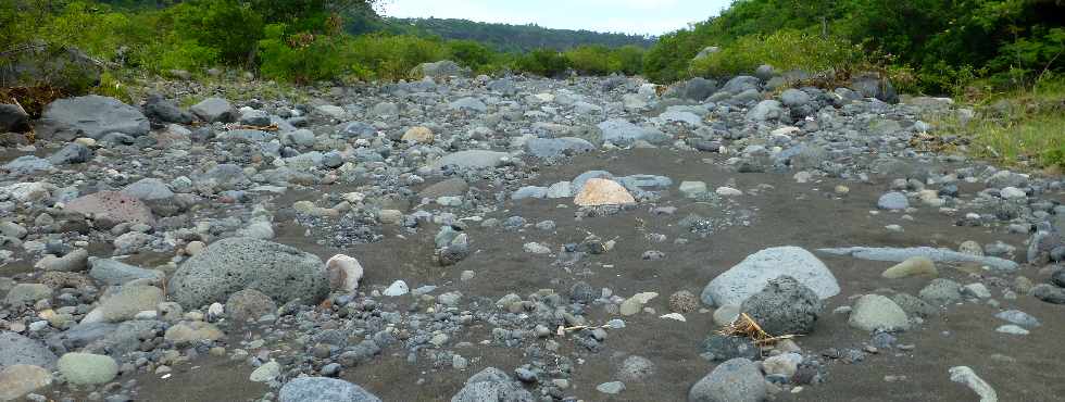
[[[762,370],[743,357],[714,367],[688,391],[689,402],[761,402],[765,398]]]

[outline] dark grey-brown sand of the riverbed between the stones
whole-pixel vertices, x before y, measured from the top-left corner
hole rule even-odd
[[[588,169],[607,169],[615,175],[655,174],[674,179],[674,193],[666,194],[655,205],[641,204],[616,215],[573,218],[575,208],[571,200],[524,200],[508,202],[509,210],[490,217],[505,218],[521,215],[529,223],[554,219],[554,233],[527,228],[524,231],[484,229],[474,225],[468,230],[476,252],[455,266],[441,268],[431,262],[431,236],[435,229],[422,229],[416,236],[398,239],[394,231],[385,231],[384,241],[361,244],[348,249],[333,249],[315,244],[304,237],[304,228],[292,224],[290,215],[279,213],[275,222],[277,241],[296,246],[327,259],[336,252],[356,256],[364,267],[364,284],[388,285],[404,279],[415,288],[437,285],[435,294],[459,290],[466,296],[483,296],[492,300],[506,293],[528,294],[541,288],[554,288],[565,293],[576,280],[585,280],[596,288],[613,289],[615,294],[627,297],[642,291],[661,296],[648,305],[659,314],[668,312],[668,296],[687,289],[697,296],[703,286],[716,275],[740,262],[748,254],[776,246],[801,246],[809,250],[825,247],[882,246],[910,247],[935,246],[956,248],[962,241],[976,240],[988,243],[1002,240],[1024,250],[1023,235],[1006,234],[1003,228],[954,226],[954,218],[931,208],[922,206],[912,214],[914,221],[904,221],[902,214],[870,214],[876,198],[888,188],[889,180],[874,178],[873,184],[845,183],[851,191],[839,198],[834,187],[843,184],[825,180],[814,184],[797,184],[790,176],[776,174],[738,174],[702,161],[707,154],[677,153],[668,150],[631,150],[612,154],[591,154],[576,158],[572,163],[542,166],[540,177],[532,185],[550,185],[569,180]],[[715,158],[721,158],[716,156]],[[692,235],[677,225],[689,213],[714,216],[722,211],[713,205],[685,200],[676,193],[681,180],[706,181],[711,189],[735,180],[734,187],[744,190],[770,185],[757,194],[744,194],[731,199],[729,208],[737,212],[753,212],[750,226],[735,226],[706,238]],[[491,190],[486,183],[474,187]],[[963,198],[966,197],[963,186]],[[323,186],[321,191],[335,191]],[[972,197],[972,191],[968,197]],[[305,198],[301,198],[305,197]],[[285,199],[312,199],[316,194],[290,193]],[[281,200],[278,200],[281,201]],[[1058,201],[1063,201],[1058,194]],[[287,205],[278,202],[279,205]],[[567,204],[569,208],[557,208]],[[652,206],[676,206],[673,216],[652,215]],[[903,233],[892,233],[886,225],[899,224]],[[551,263],[551,256],[523,252],[528,241],[546,243],[553,249],[566,242],[576,242],[588,233],[604,239],[615,238],[617,246],[606,254],[591,255],[582,260],[577,269],[566,271]],[[664,234],[665,242],[652,243],[646,234]],[[684,237],[687,244],[675,244],[674,239]],[[665,253],[661,261],[644,261],[647,250]],[[402,252],[397,252],[402,251]],[[928,279],[884,279],[879,275],[890,263],[867,262],[851,257],[818,255],[829,266],[840,282],[842,291],[826,302],[826,313],[815,331],[798,339],[804,354],[819,354],[828,348],[861,349],[869,341],[869,335],[847,325],[847,316],[831,314],[841,305],[849,305],[856,296],[868,292],[887,293],[905,291],[916,294]],[[142,259],[148,259],[142,256]],[[11,269],[11,268],[8,268]],[[462,271],[476,272],[473,280],[460,282]],[[969,274],[950,266],[940,266],[941,276],[961,284],[975,281]],[[9,274],[3,272],[2,274]],[[1035,280],[1045,280],[1037,268],[1023,267],[1018,273]],[[1007,277],[1012,280],[1012,275]],[[975,401],[975,394],[966,387],[950,381],[948,369],[956,365],[972,366],[998,391],[1000,401],[1054,401],[1065,399],[1065,370],[1063,370],[1061,334],[1065,334],[1065,306],[1040,302],[1030,297],[1002,300],[1002,290],[992,288],[994,298],[1004,309],[1019,309],[1042,322],[1030,335],[1018,337],[994,331],[1005,324],[993,317],[1000,309],[986,304],[964,303],[952,305],[940,316],[930,317],[923,325],[898,336],[899,343],[914,344],[912,351],[888,350],[869,355],[856,364],[829,361],[829,376],[825,384],[804,387],[801,392],[778,394],[779,401]],[[602,307],[591,309],[591,322],[601,323],[606,316]],[[659,318],[657,315],[639,314],[626,317],[627,327],[612,330],[599,353],[575,351],[582,360],[573,376],[572,394],[586,401],[678,401],[685,400],[688,388],[709,373],[714,364],[699,356],[701,342],[718,329],[710,312],[687,314],[687,323]],[[477,343],[490,339],[491,327],[474,326],[453,342]],[[239,338],[241,334],[230,334]],[[562,341],[564,350],[573,350],[573,343]],[[346,369],[343,378],[379,395],[385,401],[446,401],[450,400],[474,373],[487,366],[513,370],[523,364],[524,348],[499,346],[454,349],[471,359],[465,372],[453,368],[436,369],[428,363],[406,363],[406,352],[390,348],[373,363]],[[607,397],[596,391],[601,382],[616,379],[615,370],[622,359],[639,354],[656,365],[656,374],[644,384],[626,384],[627,390]],[[1015,359],[1013,363],[992,359],[1002,354]],[[139,399],[145,401],[242,401],[261,398],[264,386],[250,382],[251,372],[243,362],[201,359],[191,365],[179,365],[168,379],[158,375],[140,375],[136,378],[142,388]],[[906,376],[904,380],[889,382],[885,376]],[[120,380],[129,377],[122,377]],[[424,382],[416,385],[417,379]]]

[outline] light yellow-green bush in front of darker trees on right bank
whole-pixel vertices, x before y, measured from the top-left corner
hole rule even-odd
[[[823,38],[793,29],[770,35],[751,35],[722,51],[691,63],[693,75],[725,77],[750,74],[759,65],[778,71],[849,71],[863,61],[861,49],[841,38]]]

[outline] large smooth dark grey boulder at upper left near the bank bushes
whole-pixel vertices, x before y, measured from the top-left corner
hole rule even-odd
[[[148,117],[137,108],[97,95],[54,101],[45,108],[37,124],[37,135],[54,141],[100,139],[112,133],[137,137],[150,129]]]

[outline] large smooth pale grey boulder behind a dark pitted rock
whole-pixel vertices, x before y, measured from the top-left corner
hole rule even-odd
[[[825,263],[802,248],[786,246],[748,255],[711,280],[703,288],[702,301],[707,305],[741,305],[780,276],[794,278],[822,300],[839,294],[839,284]]]

